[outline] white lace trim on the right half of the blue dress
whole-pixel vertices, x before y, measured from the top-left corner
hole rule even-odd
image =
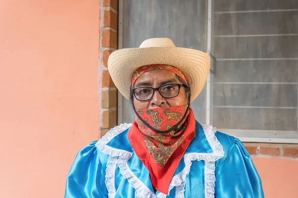
[[[207,141],[212,148],[213,152],[211,153],[199,153],[192,152],[184,154],[184,169],[175,175],[169,185],[168,194],[157,195],[158,198],[165,198],[170,194],[170,190],[173,187],[176,187],[175,197],[176,198],[184,198],[184,186],[185,186],[185,178],[186,175],[189,174],[190,167],[193,160],[204,160],[205,161],[205,198],[214,198],[214,187],[215,187],[215,161],[222,158],[224,156],[224,150],[221,143],[218,141],[215,133],[217,132],[216,128],[211,125],[202,125],[204,134],[207,138]],[[206,171],[207,170],[207,171]]]

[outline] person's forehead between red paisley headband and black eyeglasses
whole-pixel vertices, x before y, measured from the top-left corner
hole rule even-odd
[[[179,82],[176,74],[174,74],[173,72],[170,72],[168,70],[153,70],[142,74],[136,81],[135,85],[138,85],[139,83],[158,84],[168,80]]]

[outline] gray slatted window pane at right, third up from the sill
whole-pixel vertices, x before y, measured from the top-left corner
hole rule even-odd
[[[298,60],[216,61],[214,82],[298,83]]]

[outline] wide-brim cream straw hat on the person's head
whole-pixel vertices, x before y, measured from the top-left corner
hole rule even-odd
[[[210,70],[207,53],[177,48],[167,38],[145,40],[140,48],[118,49],[108,59],[111,78],[119,92],[128,100],[133,73],[139,67],[151,64],[171,65],[182,71],[190,86],[190,101],[196,99],[203,90]]]

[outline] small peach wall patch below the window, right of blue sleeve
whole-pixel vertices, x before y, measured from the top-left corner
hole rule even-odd
[[[298,160],[253,157],[265,198],[298,198]]]

